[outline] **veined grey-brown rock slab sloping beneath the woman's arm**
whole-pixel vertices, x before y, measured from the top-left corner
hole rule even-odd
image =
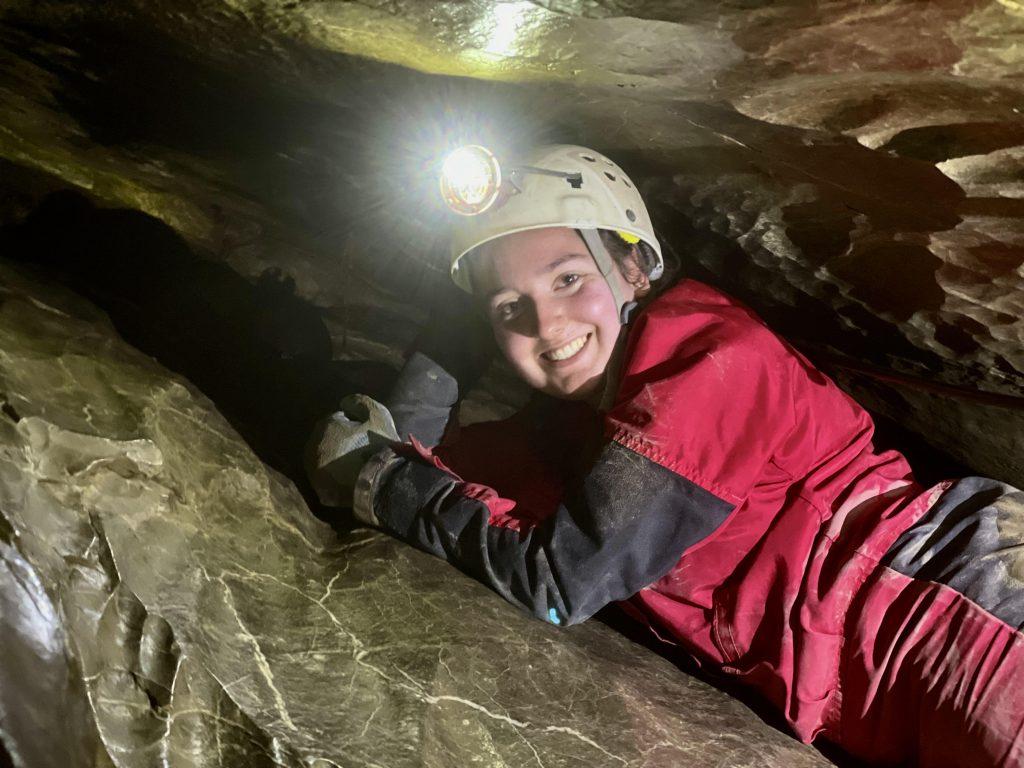
[[[0,725],[17,766],[815,766],[608,628],[339,537],[90,304],[0,265]]]

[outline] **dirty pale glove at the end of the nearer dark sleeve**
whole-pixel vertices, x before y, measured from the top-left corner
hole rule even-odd
[[[306,443],[306,474],[321,502],[351,508],[359,470],[372,456],[397,441],[386,408],[365,394],[345,397],[341,410],[321,421]],[[372,519],[360,521],[374,524]]]

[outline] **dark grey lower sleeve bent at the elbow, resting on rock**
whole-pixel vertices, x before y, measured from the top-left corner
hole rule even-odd
[[[372,503],[385,529],[556,625],[656,581],[732,511],[613,441],[554,513],[524,530],[494,524],[492,513],[509,502],[437,461],[392,459]]]

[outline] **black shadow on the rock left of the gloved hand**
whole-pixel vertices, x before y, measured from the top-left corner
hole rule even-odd
[[[99,209],[83,195],[47,196],[0,228],[0,253],[103,309],[121,336],[203,391],[259,458],[291,478],[327,519],[302,468],[317,419],[347,393],[383,397],[395,371],[332,359],[316,307],[273,268],[252,284],[195,254],[162,221]]]

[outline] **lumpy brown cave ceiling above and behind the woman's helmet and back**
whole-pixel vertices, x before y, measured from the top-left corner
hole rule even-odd
[[[394,362],[443,150],[594,145],[684,271],[1020,482],[1022,111],[1017,0],[8,0],[0,217],[69,186],[142,211]]]

